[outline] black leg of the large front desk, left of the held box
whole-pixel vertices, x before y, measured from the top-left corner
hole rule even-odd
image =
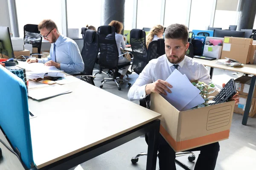
[[[154,130],[148,134],[148,156],[146,170],[155,170],[157,164],[157,148],[159,142],[160,120],[157,120]]]

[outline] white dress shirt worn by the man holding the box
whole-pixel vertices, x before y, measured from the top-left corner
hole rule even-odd
[[[198,80],[205,82],[206,84],[212,82],[207,68],[192,58],[185,56],[178,65],[178,71],[180,71],[181,74],[186,74],[189,80]],[[158,79],[165,81],[174,70],[175,68],[173,64],[168,61],[166,54],[157,59],[152,59],[140,73],[134,85],[130,88],[128,98],[130,100],[145,98],[145,87],[147,84],[155,82]]]

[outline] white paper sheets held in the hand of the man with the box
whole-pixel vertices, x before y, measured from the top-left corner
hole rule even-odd
[[[177,69],[166,79],[166,82],[172,85],[172,88],[169,88],[172,93],[162,96],[177,110],[187,111],[205,102],[199,94],[201,91],[192,85],[186,74],[182,75]]]

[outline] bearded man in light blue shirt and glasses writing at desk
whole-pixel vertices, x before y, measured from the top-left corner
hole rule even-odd
[[[41,37],[52,44],[50,55],[43,59],[27,59],[28,63],[41,62],[47,66],[55,66],[68,74],[79,74],[84,71],[84,62],[78,45],[74,40],[61,35],[52,20],[41,21],[38,30]]]

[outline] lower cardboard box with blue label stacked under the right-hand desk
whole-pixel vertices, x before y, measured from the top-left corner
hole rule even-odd
[[[247,97],[248,96],[239,95],[239,104],[235,105],[234,113],[244,115],[244,109],[245,109]],[[256,100],[253,97],[252,103],[251,103],[251,106],[250,106],[249,117],[253,117],[256,114],[255,102],[256,102]]]

